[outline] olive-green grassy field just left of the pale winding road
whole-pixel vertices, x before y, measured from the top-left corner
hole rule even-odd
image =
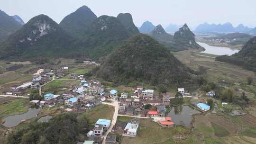
[[[84,116],[88,118],[89,124],[94,124],[99,118],[112,120],[114,111],[115,109],[112,106],[99,105],[84,113]]]

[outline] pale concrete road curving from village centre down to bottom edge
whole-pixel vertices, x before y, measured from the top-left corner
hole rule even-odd
[[[110,99],[110,100],[112,101],[112,103],[102,102],[102,104],[110,105],[110,106],[115,107],[115,112],[114,112],[114,115],[113,115],[113,118],[112,118],[112,121],[111,121],[110,128],[107,130],[106,134],[104,135],[102,144],[106,144],[107,135],[112,131],[113,127],[115,126],[115,124],[117,122],[117,117],[118,117],[118,110],[119,110],[118,101],[112,100],[112,99]]]

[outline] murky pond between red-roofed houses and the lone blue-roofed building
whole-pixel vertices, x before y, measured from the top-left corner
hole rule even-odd
[[[168,117],[172,117],[172,121],[175,125],[190,127],[192,115],[200,113],[200,111],[192,107],[179,105],[172,108],[168,113]]]

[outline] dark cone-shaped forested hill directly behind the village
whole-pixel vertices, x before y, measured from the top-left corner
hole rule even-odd
[[[156,86],[171,86],[191,79],[189,68],[144,34],[123,42],[102,63],[97,75],[115,83],[142,81]]]

